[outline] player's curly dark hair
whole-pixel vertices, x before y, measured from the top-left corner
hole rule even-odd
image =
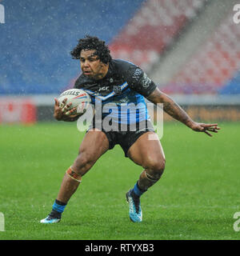
[[[78,45],[70,52],[74,59],[79,59],[82,50],[96,50],[95,54],[101,62],[107,64],[111,61],[110,50],[105,42],[97,37],[86,35],[85,38],[78,40]]]

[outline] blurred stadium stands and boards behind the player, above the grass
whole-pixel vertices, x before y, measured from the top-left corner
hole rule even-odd
[[[0,123],[54,121],[54,97],[81,74],[70,50],[86,34],[106,41],[114,58],[141,66],[192,118],[240,121],[237,3],[0,1]]]

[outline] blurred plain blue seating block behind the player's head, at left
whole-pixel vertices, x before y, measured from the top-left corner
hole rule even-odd
[[[143,1],[3,1],[0,95],[58,94],[79,74],[70,56],[78,38],[110,42]]]

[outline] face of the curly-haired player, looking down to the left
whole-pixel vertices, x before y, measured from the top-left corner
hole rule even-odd
[[[80,54],[80,63],[82,73],[90,78],[99,79],[104,73],[106,65],[100,61],[95,50],[82,50]]]

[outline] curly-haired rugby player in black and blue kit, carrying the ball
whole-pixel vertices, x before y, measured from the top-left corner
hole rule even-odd
[[[212,136],[210,132],[217,133],[220,128],[217,123],[194,122],[176,102],[158,89],[139,66],[112,59],[108,46],[97,37],[86,36],[79,39],[78,45],[71,51],[71,54],[73,58],[80,60],[82,69],[82,74],[75,82],[74,88],[86,90],[93,104],[100,99],[102,106],[106,103],[114,103],[115,107],[109,113],[111,122],[117,123],[119,128],[124,123],[127,129],[124,131],[121,129],[107,130],[102,126],[102,120],[99,126],[99,120],[94,118],[82,140],[78,157],[66,170],[50,214],[41,222],[60,222],[62,212],[77,190],[82,177],[94,166],[102,154],[113,149],[116,144],[122,147],[127,158],[142,166],[143,170],[138,181],[126,193],[130,220],[142,222],[140,197],[150,186],[158,182],[165,168],[165,155],[158,135],[155,134],[150,123],[144,98],[154,104],[162,103],[163,110],[167,114],[194,131]],[[121,111],[119,106],[122,103],[134,103],[139,106],[135,118],[119,118],[119,111]],[[102,113],[102,118],[105,117],[106,113]],[[66,99],[60,105],[58,99],[55,98],[54,118],[59,121],[74,122],[79,115],[76,114],[76,109],[70,109],[70,104],[66,104]],[[131,130],[130,125],[133,123],[135,129]],[[142,123],[146,126],[142,126]],[[149,135],[154,139],[149,139]]]

